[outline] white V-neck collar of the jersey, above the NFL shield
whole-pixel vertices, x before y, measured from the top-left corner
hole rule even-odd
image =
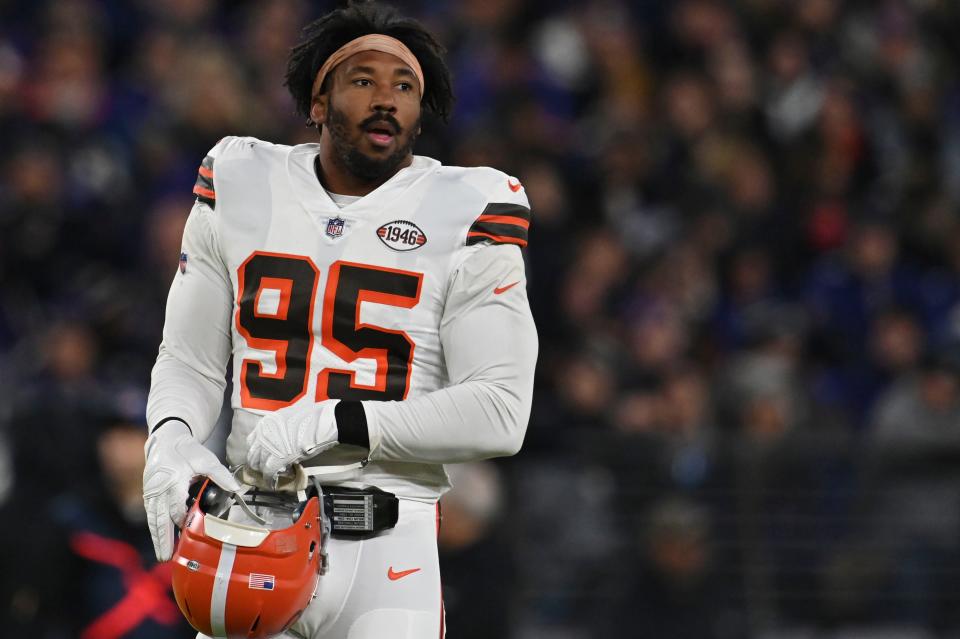
[[[335,214],[341,217],[363,217],[366,213],[381,210],[384,206],[393,204],[415,182],[440,166],[433,158],[415,155],[410,166],[400,169],[389,180],[357,201],[340,208],[317,179],[313,163],[318,153],[320,145],[316,143],[291,147],[287,157],[287,173],[293,192],[303,207],[311,214],[320,216]]]

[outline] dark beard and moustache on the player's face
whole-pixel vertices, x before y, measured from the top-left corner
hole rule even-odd
[[[404,129],[390,114],[374,114],[364,120],[359,128],[377,121],[387,121],[396,128],[395,139],[400,142]],[[355,144],[350,142],[353,127],[343,111],[330,105],[327,120],[324,126],[330,130],[330,139],[333,142],[334,158],[341,167],[353,176],[364,182],[384,182],[400,169],[400,165],[413,152],[413,145],[417,141],[417,131],[420,130],[420,118],[410,129],[405,142],[401,142],[397,150],[383,159],[373,158],[364,154]]]

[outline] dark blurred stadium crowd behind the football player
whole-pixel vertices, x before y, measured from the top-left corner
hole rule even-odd
[[[394,4],[456,82],[418,152],[534,209],[450,636],[960,637],[960,3]],[[281,80],[334,6],[0,0],[0,635],[192,636],[139,495],[167,287],[207,150],[314,140]]]

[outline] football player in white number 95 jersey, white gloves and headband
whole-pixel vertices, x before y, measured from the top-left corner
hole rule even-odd
[[[269,490],[294,464],[364,462],[325,484],[397,498],[395,524],[334,531],[289,636],[442,636],[443,464],[515,454],[529,417],[529,204],[504,173],[413,154],[453,95],[442,47],[391,8],[309,25],[286,85],[317,143],[227,137],[199,168],[147,410],[157,558],[195,478],[240,488],[203,446],[232,357],[232,468]]]

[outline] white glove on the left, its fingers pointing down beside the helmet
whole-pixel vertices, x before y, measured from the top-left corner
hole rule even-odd
[[[206,476],[231,492],[240,490],[240,483],[183,422],[158,428],[147,438],[144,451],[143,505],[157,560],[166,561],[173,556],[173,526],[182,526],[187,516],[190,482]]]

